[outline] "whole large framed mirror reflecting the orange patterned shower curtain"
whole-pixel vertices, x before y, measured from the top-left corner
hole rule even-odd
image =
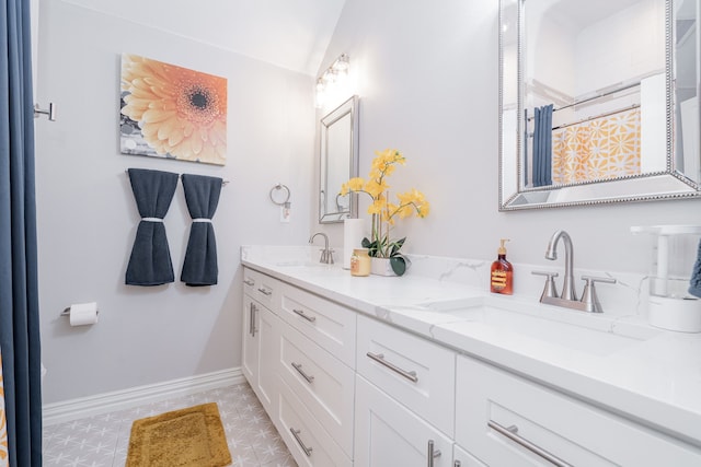
[[[697,0],[501,0],[499,210],[700,196]]]

